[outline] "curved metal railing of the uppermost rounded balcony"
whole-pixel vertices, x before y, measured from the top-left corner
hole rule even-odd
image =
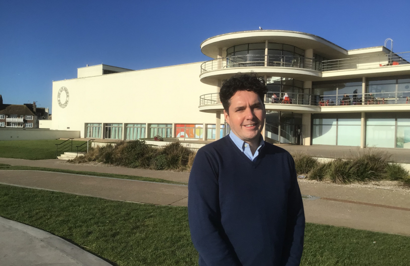
[[[231,67],[277,66],[320,70],[321,63],[314,58],[280,55],[243,55],[209,60],[201,65],[201,73]]]

